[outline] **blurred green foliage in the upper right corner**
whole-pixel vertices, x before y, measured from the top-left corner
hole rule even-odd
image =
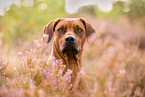
[[[137,18],[142,18],[145,16],[145,1],[144,0],[126,0],[126,1],[116,1],[113,3],[113,9],[109,13],[104,13],[97,10],[96,15],[99,17],[106,17],[112,20],[120,16],[126,16],[128,19],[133,21]]]

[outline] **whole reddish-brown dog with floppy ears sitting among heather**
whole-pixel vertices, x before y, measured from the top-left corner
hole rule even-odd
[[[49,22],[43,29],[43,33],[49,35],[46,40],[49,43],[54,36],[52,55],[56,60],[62,60],[67,69],[72,70],[71,83],[75,84],[78,72],[82,69],[83,45],[95,29],[83,18],[58,18]],[[78,89],[83,90],[82,80],[78,83]]]

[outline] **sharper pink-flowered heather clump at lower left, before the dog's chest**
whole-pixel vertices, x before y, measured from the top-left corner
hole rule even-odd
[[[71,89],[71,70],[63,75],[65,65],[61,60],[52,58],[47,64],[46,45],[34,40],[34,49],[24,55],[18,52],[21,69],[14,68],[15,77],[6,78],[2,85],[2,96],[61,96],[67,95]]]

